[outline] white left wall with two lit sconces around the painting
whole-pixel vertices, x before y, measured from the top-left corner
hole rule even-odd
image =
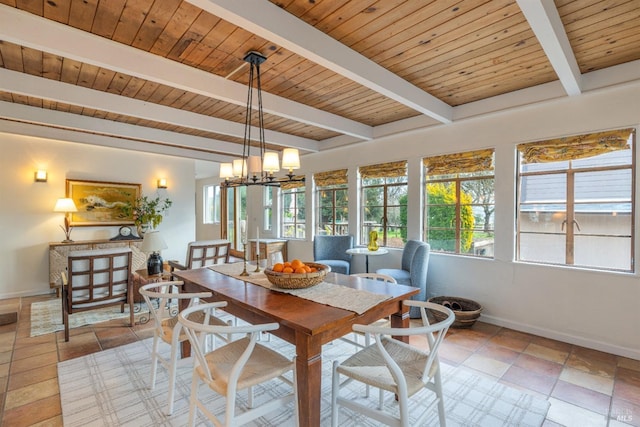
[[[167,259],[184,261],[195,239],[194,161],[115,148],[2,133],[0,127],[0,298],[48,293],[49,242],[64,239],[63,214],[53,206],[65,196],[65,180],[142,184],[145,195],[166,195],[173,206],[158,229],[167,241]],[[49,180],[36,183],[36,169]],[[156,180],[166,177],[167,190]],[[74,227],[73,240],[110,239],[119,227]]]

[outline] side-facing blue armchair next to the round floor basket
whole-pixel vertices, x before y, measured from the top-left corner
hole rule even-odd
[[[393,277],[399,284],[413,286],[420,289],[420,293],[411,297],[413,300],[426,301],[427,299],[427,269],[429,268],[428,243],[419,240],[409,240],[402,251],[401,268],[382,268],[376,273]],[[420,317],[420,309],[411,307],[410,316]]]

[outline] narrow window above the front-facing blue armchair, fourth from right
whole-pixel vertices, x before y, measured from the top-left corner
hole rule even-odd
[[[347,169],[313,175],[316,183],[316,234],[349,234]]]

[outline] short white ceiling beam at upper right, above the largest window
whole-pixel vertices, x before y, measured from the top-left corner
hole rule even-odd
[[[578,61],[553,0],[516,0],[569,96],[582,93]]]

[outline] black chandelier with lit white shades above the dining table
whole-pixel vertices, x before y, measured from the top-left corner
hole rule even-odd
[[[244,61],[249,63],[249,90],[247,93],[247,107],[245,113],[244,139],[242,141],[242,158],[233,163],[220,164],[220,178],[225,187],[241,187],[249,185],[265,185],[279,187],[282,182],[304,181],[304,177],[293,175],[295,169],[300,168],[298,149],[285,148],[282,151],[282,167],[288,169],[286,178],[274,175],[280,171],[280,159],[275,151],[267,151],[264,141],[264,113],[262,111],[262,85],[260,83],[260,64],[267,58],[258,52],[249,52]],[[253,117],[253,95],[258,98],[258,141],[259,155],[251,154],[251,121]],[[255,149],[255,147],[254,147]]]

